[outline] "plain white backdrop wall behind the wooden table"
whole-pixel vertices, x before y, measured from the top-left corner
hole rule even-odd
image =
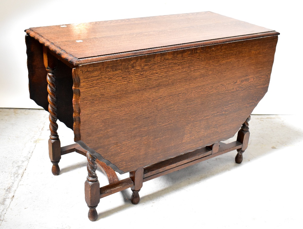
[[[40,108],[28,93],[24,30],[29,27],[212,11],[281,33],[268,93],[253,113],[298,113],[303,82],[302,14],[296,2],[1,0],[0,107]]]

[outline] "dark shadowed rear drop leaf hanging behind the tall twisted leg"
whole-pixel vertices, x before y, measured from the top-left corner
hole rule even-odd
[[[43,63],[43,46],[34,38],[26,35],[29,95],[39,106],[48,111],[47,71]],[[56,105],[58,119],[73,129],[73,78],[72,68],[61,61],[55,68]]]

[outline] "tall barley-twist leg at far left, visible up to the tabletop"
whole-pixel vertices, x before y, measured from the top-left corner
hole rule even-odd
[[[44,66],[47,71],[47,91],[48,91],[48,112],[49,112],[49,130],[51,135],[48,140],[48,154],[49,159],[52,162],[52,174],[59,175],[59,161],[61,159],[61,143],[59,140],[59,136],[57,133],[58,124],[57,124],[57,105],[56,105],[56,86],[55,86],[55,67],[57,64],[57,60],[52,55],[48,54],[47,48],[43,47],[43,61]]]

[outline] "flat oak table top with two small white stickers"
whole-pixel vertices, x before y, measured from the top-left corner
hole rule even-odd
[[[151,49],[149,52],[165,51],[171,46],[186,48],[193,43],[222,38],[226,42],[245,35],[252,35],[250,39],[274,31],[213,12],[198,12],[34,27],[25,32],[76,65],[85,58],[125,56],[134,51],[146,54]]]

